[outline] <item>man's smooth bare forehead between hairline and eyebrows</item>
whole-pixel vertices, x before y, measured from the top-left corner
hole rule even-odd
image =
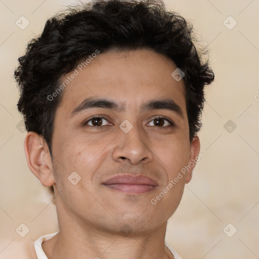
[[[67,114],[88,97],[109,97],[131,110],[155,98],[171,97],[179,106],[185,105],[184,82],[171,76],[177,66],[167,57],[146,49],[93,57],[62,78],[64,82],[70,77],[60,105]]]

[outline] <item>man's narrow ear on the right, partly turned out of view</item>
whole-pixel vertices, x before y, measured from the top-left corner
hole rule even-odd
[[[185,177],[186,184],[188,184],[192,179],[192,170],[195,167],[196,162],[199,161],[200,159],[199,152],[200,152],[200,139],[198,136],[194,136],[190,146],[190,156],[189,156],[188,165],[187,165],[188,170],[186,172],[186,177]]]

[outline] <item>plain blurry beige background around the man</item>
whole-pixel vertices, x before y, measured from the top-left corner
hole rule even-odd
[[[35,240],[58,230],[56,208],[46,187],[30,172],[23,149],[26,132],[17,124],[17,58],[47,18],[77,1],[0,0],[0,258],[15,242]],[[198,134],[204,157],[169,219],[166,241],[185,258],[259,258],[259,2],[258,0],[165,1],[194,25],[210,48],[215,80],[206,88],[203,127]],[[25,16],[29,25],[16,21]],[[228,29],[232,16],[237,25]],[[227,19],[233,24],[233,21]],[[225,130],[228,120],[236,124]],[[18,124],[20,125],[20,124]],[[18,126],[19,127],[19,126]],[[20,224],[29,233],[20,237]],[[231,223],[237,232],[228,237]],[[227,228],[231,234],[234,227]]]

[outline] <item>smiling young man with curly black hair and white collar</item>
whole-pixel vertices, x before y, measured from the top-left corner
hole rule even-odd
[[[30,170],[59,231],[32,258],[180,258],[167,220],[190,182],[208,62],[160,1],[95,1],[49,19],[19,58]]]

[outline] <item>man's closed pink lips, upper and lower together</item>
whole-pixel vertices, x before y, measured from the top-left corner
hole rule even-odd
[[[154,189],[157,182],[143,175],[117,175],[105,181],[103,185],[117,191],[139,194]]]

